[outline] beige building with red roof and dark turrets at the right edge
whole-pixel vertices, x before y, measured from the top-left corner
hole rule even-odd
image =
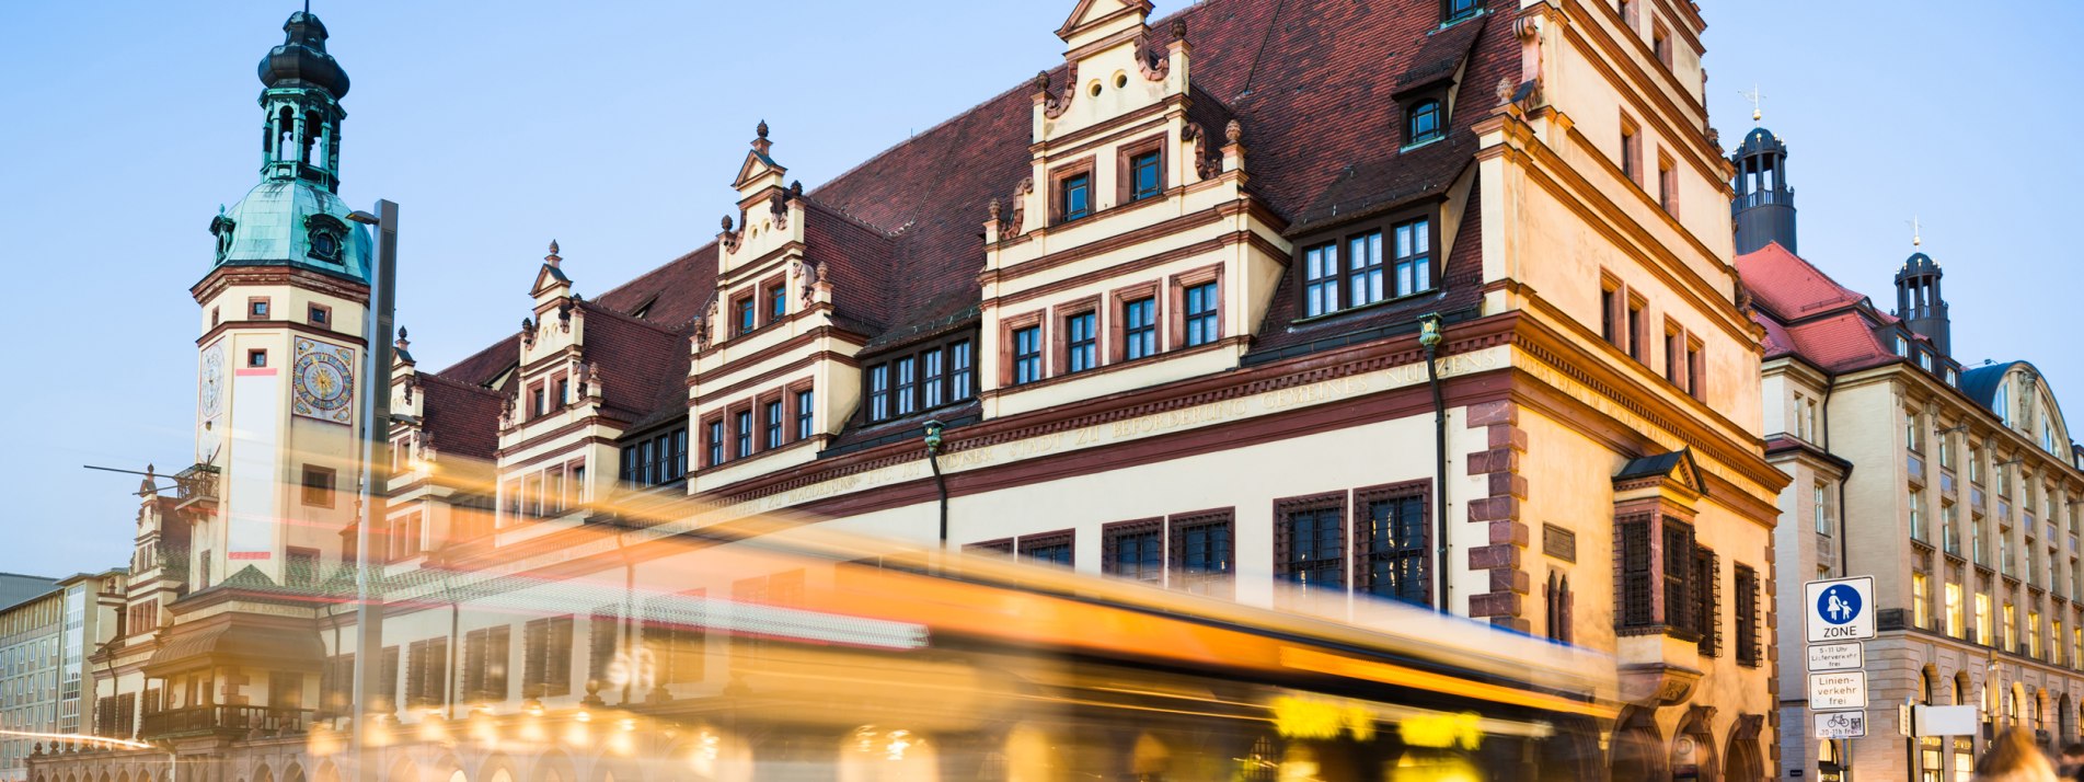
[[[1784,154],[1755,129],[1734,158],[1782,171]],[[1734,209],[1746,225],[1759,202]],[[2080,740],[2084,471],[2055,394],[2030,363],[1951,355],[1932,256],[1903,263],[1896,311],[1882,313],[1788,250],[1792,215],[1755,223],[1771,227],[1736,265],[1767,329],[1767,457],[1792,480],[1780,594],[1874,576],[1880,621],[1867,738],[1830,742],[1798,730],[1811,722],[1805,611],[1780,613],[1782,778],[1965,778],[2001,726],[2032,728],[2051,751]],[[1982,705],[1984,734],[1926,736],[1913,755],[1896,730],[1905,701]]]

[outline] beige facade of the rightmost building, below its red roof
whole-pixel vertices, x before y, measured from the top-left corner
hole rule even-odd
[[[1878,607],[1892,611],[1867,644],[1874,703],[1980,705],[1986,724],[2026,726],[2059,749],[2080,740],[2084,705],[2076,551],[2084,473],[2046,384],[2028,365],[2005,375],[1999,398],[2038,415],[2001,417],[1911,363],[1834,380],[1803,361],[1769,363],[1773,421],[1805,444],[1776,457],[1792,478],[1782,494],[1780,588],[1871,573]],[[2042,423],[2057,450],[2042,446]],[[1782,657],[1803,661],[1798,613],[1782,615],[1782,638],[1790,638]],[[1786,719],[1805,717],[1805,667],[1782,669]],[[1896,711],[1871,713],[1869,738],[1844,755],[1851,774],[1901,778]],[[1934,742],[1946,778],[1982,753],[1982,736]],[[1790,765],[1809,759],[1813,769],[1819,753],[1815,738],[1788,734]]]

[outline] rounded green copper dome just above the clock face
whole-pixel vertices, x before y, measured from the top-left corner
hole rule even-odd
[[[269,179],[210,221],[217,267],[300,267],[369,284],[369,229],[348,202],[300,179]]]

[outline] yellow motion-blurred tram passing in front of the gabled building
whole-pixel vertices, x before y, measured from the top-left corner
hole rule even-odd
[[[825,534],[667,559],[675,588],[629,580],[644,621],[606,688],[671,740],[617,780],[1605,776],[1611,659],[1423,607]]]

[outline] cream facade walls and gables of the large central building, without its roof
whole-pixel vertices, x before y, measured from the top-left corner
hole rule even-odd
[[[1284,217],[1280,196],[1252,186],[1273,165],[1294,165],[1298,150],[1255,146],[1255,119],[1242,113],[1211,127],[1211,106],[1232,115],[1196,92],[1194,33],[1182,40],[1175,27],[1161,54],[1146,52],[1146,15],[1140,2],[1077,2],[1059,31],[1063,73],[1077,79],[1044,77],[1034,92],[1029,177],[1004,181],[998,192],[1013,196],[988,213],[959,215],[982,221],[984,242],[975,321],[963,325],[975,346],[975,411],[946,421],[938,453],[950,494],[944,544],[1032,555],[1046,542],[1050,557],[1061,557],[1055,561],[1102,576],[1115,569],[1107,553],[1119,521],[1223,517],[1234,542],[1227,578],[1190,584],[1165,569],[1159,584],[1282,609],[1277,594],[1286,592],[1275,584],[1323,567],[1296,561],[1284,542],[1298,513],[1336,513],[1340,534],[1357,538],[1384,498],[1421,498],[1423,584],[1363,584],[1367,567],[1342,561],[1313,571],[1336,573],[1336,588],[1305,601],[1319,611],[1328,603],[1363,607],[1373,601],[1371,586],[1382,594],[1394,586],[1450,615],[1611,655],[1619,686],[1592,697],[1621,709],[1598,726],[1603,740],[1590,753],[1613,778],[1742,778],[1778,765],[1773,498],[1786,475],[1763,457],[1759,329],[1738,309],[1721,217],[1730,171],[1709,140],[1694,8],[1632,2],[1623,15],[1607,4],[1494,2],[1473,21],[1440,25],[1440,35],[1478,25],[1459,31],[1471,44],[1455,60],[1455,77],[1440,81],[1459,106],[1450,127],[1461,136],[1409,144],[1403,152],[1413,156],[1398,161],[1425,161],[1457,144],[1469,154],[1440,167],[1423,198],[1307,219],[1292,202]],[[1490,25],[1484,35],[1471,31],[1482,25]],[[1478,73],[1503,79],[1478,83]],[[1392,77],[1382,73],[1380,81]],[[1161,188],[1123,198],[1134,188],[1117,177],[1144,150],[1163,161]],[[621,636],[625,646],[596,644],[596,634],[617,624],[592,617],[642,611],[642,598],[631,603],[629,594],[790,588],[773,576],[748,584],[704,573],[675,555],[631,555],[650,542],[761,513],[936,542],[936,463],[919,440],[932,411],[909,423],[863,413],[875,392],[863,371],[898,361],[892,357],[907,344],[871,340],[838,317],[861,288],[834,273],[840,261],[817,256],[857,250],[819,246],[819,236],[836,229],[811,227],[846,215],[819,204],[817,192],[784,188],[784,175],[763,127],[734,181],[740,217],[719,236],[715,292],[690,338],[577,298],[552,246],[534,277],[534,304],[508,369],[515,382],[492,384],[511,396],[490,463],[454,455],[442,446],[446,434],[423,432],[438,415],[425,396],[433,380],[417,380],[408,359],[398,363],[390,392],[402,473],[390,484],[386,532],[411,540],[404,548],[386,542],[404,557],[386,557],[392,609],[383,642],[398,655],[386,665],[394,676],[390,707],[402,724],[423,728],[479,707],[515,713],[644,703],[644,682],[604,674],[627,659],[590,655],[629,655],[629,636]],[[1090,177],[1084,217],[1065,215],[1065,190],[1077,175]],[[1277,315],[1294,315],[1309,248],[1340,246],[1369,221],[1413,219],[1438,238],[1430,263],[1442,271],[1434,279],[1353,307],[1357,313]],[[902,236],[900,227],[886,231]],[[1194,342],[1184,298],[1211,282],[1217,296],[1205,313],[1215,334]],[[769,309],[769,292],[779,292],[777,309]],[[238,304],[227,313],[246,313],[250,294],[300,302],[296,296],[323,290],[198,286],[206,313],[227,302]],[[752,329],[738,321],[748,298]],[[1125,332],[1134,325],[1117,319],[1146,298],[1157,309],[1159,348],[1130,361]],[[358,334],[348,325],[358,307],[333,302],[333,327]],[[1059,332],[1084,313],[1094,315],[1096,361],[1073,371],[1065,350],[1077,338]],[[1432,327],[1423,323],[1438,325],[1436,348],[1421,342],[1421,329]],[[686,350],[690,371],[673,377],[686,386],[686,413],[669,407],[663,421],[688,430],[684,484],[617,484],[621,448],[640,432],[659,432],[661,421],[617,419],[617,384],[644,367],[586,361],[609,340],[602,325],[623,329],[621,340],[675,340]],[[1032,344],[1046,346],[1032,371],[1021,367],[1019,346],[1029,327],[1038,329]],[[208,329],[204,350],[219,344],[219,332],[227,329]],[[244,357],[252,348],[290,350],[306,332],[242,323],[223,338]],[[340,344],[361,346],[352,338]],[[725,421],[729,442],[719,444],[736,448],[740,411],[761,419],[769,398],[794,402],[784,394],[798,390],[813,394],[809,438],[706,459],[711,421]],[[254,392],[235,386],[235,394]],[[231,411],[246,411],[238,396]],[[235,713],[238,726],[269,734],[338,719],[327,697],[340,692],[342,655],[356,644],[352,607],[298,601],[279,565],[256,565],[267,580],[225,584],[233,576],[221,557],[233,546],[225,532],[231,511],[210,507],[238,503],[242,482],[296,486],[292,465],[352,453],[354,430],[294,417],[286,407],[263,413],[286,432],[271,467],[246,471],[238,444],[229,457],[198,459],[223,469],[229,500],[202,505],[194,548],[210,555],[196,555],[192,588],[169,605],[171,626],[158,632],[167,644],[204,638],[204,651],[179,657],[135,636],[117,653],[119,667],[135,671],[115,684],[119,694],[163,692],[158,734],[179,734],[177,715],[198,709],[219,709],[210,711],[219,722]],[[892,436],[848,438],[877,425]],[[338,469],[354,473],[352,463]],[[609,515],[642,519],[646,507],[688,494],[706,509],[600,532]],[[352,503],[315,511],[277,498],[275,507],[296,521],[273,540],[275,561],[292,546],[338,561]],[[1342,540],[1342,551],[1355,551]],[[746,546],[744,557],[761,555]],[[1665,578],[1667,567],[1684,576]],[[565,630],[554,630],[559,617],[569,621]],[[546,665],[527,651],[538,644],[534,619],[552,621],[542,630],[552,638],[563,632],[569,669],[525,682],[515,674]],[[504,646],[473,640],[500,628]],[[208,642],[256,632],[288,640],[265,653]],[[704,674],[650,684],[669,701],[784,686],[763,682],[763,661],[744,657],[723,634],[704,644]],[[486,667],[498,667],[504,651],[502,688],[465,690],[465,646],[481,649]],[[415,682],[423,682],[419,690]],[[859,717],[834,713],[832,722]],[[152,717],[144,724],[144,738],[154,738]],[[258,763],[281,769],[294,755],[288,742],[221,730],[181,736],[181,753],[235,757],[227,778]],[[427,753],[400,747],[392,761],[450,763]],[[300,763],[317,767],[311,757]],[[473,755],[454,765],[488,763]]]

